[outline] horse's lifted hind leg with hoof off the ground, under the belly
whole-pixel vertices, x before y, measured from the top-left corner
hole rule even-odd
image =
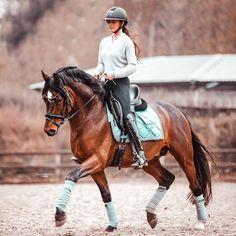
[[[149,165],[144,167],[143,170],[153,176],[159,183],[158,189],[146,206],[147,221],[151,228],[154,228],[157,224],[157,216],[155,214],[157,205],[173,183],[175,176],[161,165],[159,159],[149,162]]]

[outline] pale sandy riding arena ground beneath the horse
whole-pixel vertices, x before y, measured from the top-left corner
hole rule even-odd
[[[186,200],[186,180],[177,179],[157,209],[158,224],[151,229],[145,205],[157,188],[152,180],[110,182],[119,227],[110,235],[236,235],[236,183],[215,182],[205,230],[194,228],[195,206]],[[77,183],[67,207],[67,221],[54,226],[55,203],[62,184],[0,185],[0,235],[107,235],[107,216],[98,188]]]

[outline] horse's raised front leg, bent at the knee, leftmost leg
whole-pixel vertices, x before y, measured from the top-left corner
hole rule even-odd
[[[101,161],[98,161],[98,157],[96,155],[89,157],[86,159],[81,165],[72,170],[66,177],[64,189],[61,193],[61,196],[58,199],[56,204],[56,214],[55,214],[55,222],[56,227],[60,227],[65,223],[66,213],[65,208],[69,202],[71,192],[74,188],[75,183],[88,175],[92,175],[96,172],[104,169],[102,167]]]

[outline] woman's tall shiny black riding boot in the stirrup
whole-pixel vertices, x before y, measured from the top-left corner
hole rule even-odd
[[[133,163],[131,166],[134,167],[135,169],[140,169],[143,166],[147,166],[148,163],[147,163],[144,151],[143,151],[141,141],[139,139],[138,129],[137,129],[137,126],[136,126],[136,123],[134,121],[134,117],[132,114],[127,115],[127,120],[125,121],[125,128],[128,133],[130,142],[132,143],[134,147],[133,149],[135,149],[134,152],[137,157],[136,162]]]

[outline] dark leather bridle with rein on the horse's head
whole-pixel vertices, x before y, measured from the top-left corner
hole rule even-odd
[[[44,98],[46,98],[47,100],[55,100],[56,97],[60,95],[60,93],[57,93],[54,97],[52,98],[48,98],[45,94],[43,95]],[[70,103],[72,103],[72,100],[70,98],[69,93],[67,92],[67,97],[66,99],[69,100]],[[57,128],[59,128],[62,124],[65,123],[65,121],[67,120],[71,120],[73,117],[75,117],[77,114],[79,114],[90,102],[92,102],[92,100],[95,98],[96,94],[94,94],[88,101],[86,101],[77,111],[75,111],[72,115],[68,115],[67,114],[67,110],[68,110],[68,102],[66,102],[66,112],[62,115],[60,114],[53,114],[51,112],[46,112],[45,117],[46,120],[51,121],[54,125],[57,126]],[[65,99],[65,98],[64,98]],[[57,123],[54,119],[60,119],[61,122]]]

